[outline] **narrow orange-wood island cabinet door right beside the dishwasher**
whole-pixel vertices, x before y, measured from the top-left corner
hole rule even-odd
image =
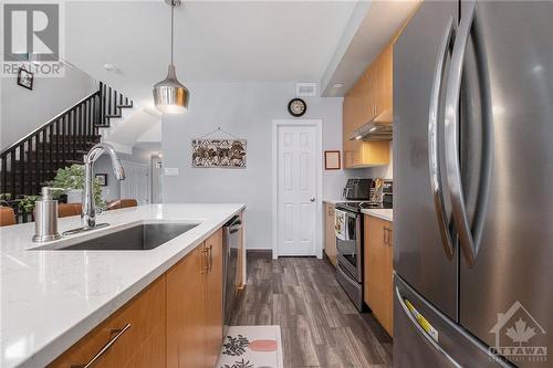
[[[206,366],[215,367],[222,344],[222,229],[205,242],[208,257],[206,277]]]

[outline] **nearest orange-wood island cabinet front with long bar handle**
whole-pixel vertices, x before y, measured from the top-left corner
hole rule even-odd
[[[94,368],[165,367],[165,275],[107,317],[49,367],[84,367],[127,325],[129,327],[96,360]]]

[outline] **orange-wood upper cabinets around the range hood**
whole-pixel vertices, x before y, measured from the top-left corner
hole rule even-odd
[[[344,168],[389,164],[389,141],[349,140],[363,124],[393,109],[393,43],[373,61],[349,90],[343,105]]]

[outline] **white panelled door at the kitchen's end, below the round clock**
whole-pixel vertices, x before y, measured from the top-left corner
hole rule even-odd
[[[278,255],[316,255],[315,126],[278,127]]]

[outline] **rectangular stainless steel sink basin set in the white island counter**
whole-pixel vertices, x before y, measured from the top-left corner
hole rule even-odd
[[[69,245],[52,244],[38,250],[61,251],[148,251],[194,229],[198,223],[138,223]],[[61,246],[60,246],[61,245]]]

